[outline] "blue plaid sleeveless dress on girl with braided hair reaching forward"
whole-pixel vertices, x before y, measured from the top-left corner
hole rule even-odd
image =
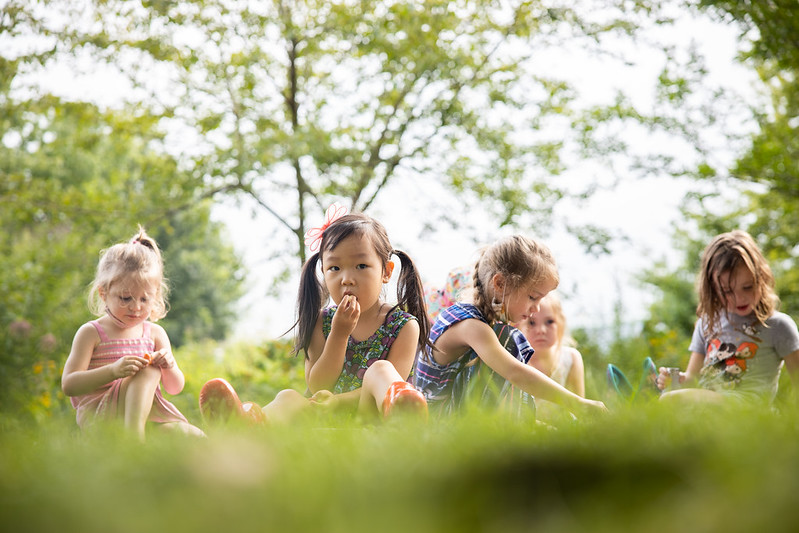
[[[435,345],[447,329],[468,319],[489,324],[474,305],[456,303],[439,313],[430,330],[430,343]],[[513,326],[501,322],[491,326],[508,353],[527,364],[533,355],[533,348],[524,335]],[[426,347],[416,360],[413,383],[424,394],[431,411],[437,414],[458,411],[467,402],[483,407],[510,407],[519,416],[535,414],[532,396],[513,387],[471,349],[455,361],[441,365],[433,359],[431,348]]]

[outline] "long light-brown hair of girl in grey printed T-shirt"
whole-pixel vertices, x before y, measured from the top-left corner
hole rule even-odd
[[[719,316],[726,309],[719,278],[722,274],[732,276],[738,267],[744,267],[752,274],[755,288],[760,295],[754,309],[757,321],[764,325],[779,308],[780,299],[774,290],[774,275],[752,236],[743,230],[722,233],[710,241],[702,253],[702,267],[697,278],[699,305],[696,315],[705,318],[705,333],[716,330]]]

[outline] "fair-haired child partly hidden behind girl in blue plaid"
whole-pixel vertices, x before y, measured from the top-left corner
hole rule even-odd
[[[583,356],[567,334],[566,316],[558,294],[553,291],[544,296],[538,312],[515,325],[535,350],[528,364],[578,396],[585,396]],[[560,407],[551,402],[539,399],[535,407],[539,420],[554,422],[559,417]]]

